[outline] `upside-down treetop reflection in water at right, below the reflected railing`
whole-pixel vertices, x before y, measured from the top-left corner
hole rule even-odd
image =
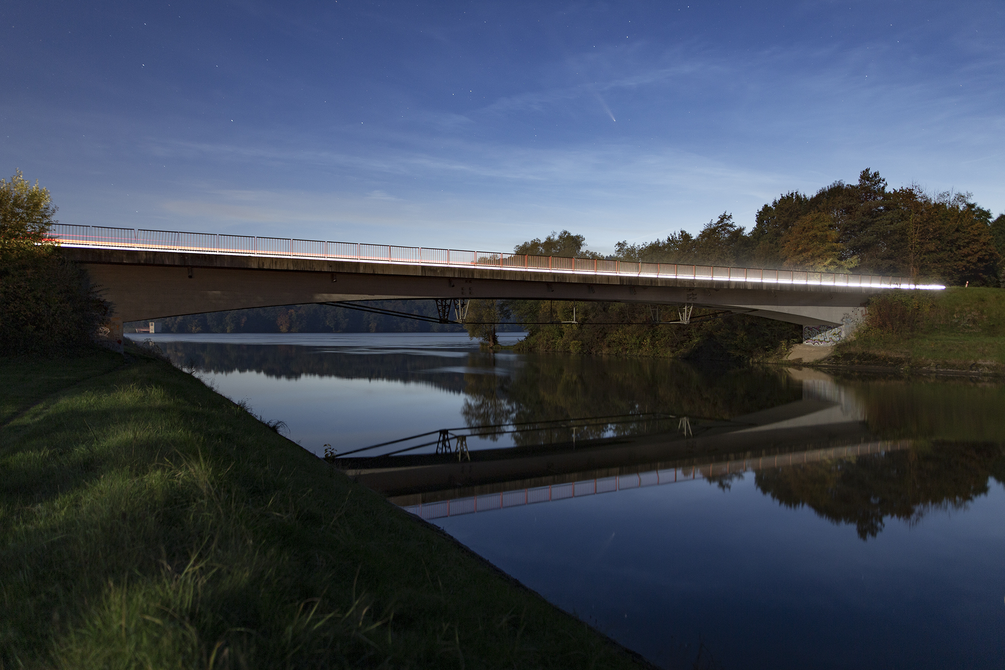
[[[961,509],[1005,484],[1005,444],[918,442],[911,449],[854,459],[767,469],[755,484],[787,507],[809,506],[834,523],[855,525],[863,540],[885,519],[917,523],[938,509]]]

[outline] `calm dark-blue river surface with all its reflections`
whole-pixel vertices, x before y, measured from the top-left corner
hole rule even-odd
[[[152,339],[315,453],[432,432],[342,465],[662,667],[1005,667],[1000,384]]]

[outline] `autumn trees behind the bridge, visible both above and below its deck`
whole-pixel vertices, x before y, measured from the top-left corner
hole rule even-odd
[[[837,181],[814,195],[782,194],[758,210],[748,231],[724,212],[696,234],[680,230],[665,239],[618,242],[603,256],[586,248],[583,235],[563,230],[514,248],[518,254],[608,258],[649,263],[752,266],[822,272],[910,276],[949,285],[999,286],[1005,267],[1005,214],[992,220],[969,193],[927,194],[917,185],[890,189],[865,169],[855,184]],[[580,327],[573,320],[573,307]],[[665,308],[664,308],[665,311]],[[711,310],[698,310],[706,315]],[[685,330],[644,325],[659,320],[648,305],[541,300],[472,301],[472,321],[515,317],[530,337],[522,351],[635,354],[751,359],[799,339],[789,323],[733,315]],[[547,321],[564,324],[540,324]],[[626,322],[636,323],[626,325]],[[535,324],[536,323],[536,324]],[[472,338],[497,345],[491,325],[472,323]]]

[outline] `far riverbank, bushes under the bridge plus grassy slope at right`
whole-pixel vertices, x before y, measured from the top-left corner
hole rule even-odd
[[[828,347],[802,345],[800,326],[791,323],[712,309],[695,309],[687,325],[648,325],[643,323],[652,313],[646,305],[542,304],[547,311],[522,316],[571,320],[576,306],[580,323],[529,326],[516,352],[1005,375],[1005,290],[1000,288],[880,295],[870,300],[865,323],[852,339]]]

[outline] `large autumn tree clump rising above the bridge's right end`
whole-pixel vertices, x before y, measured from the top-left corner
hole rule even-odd
[[[969,193],[889,189],[865,169],[807,196],[793,191],[762,207],[748,232],[723,213],[697,234],[681,230],[646,244],[619,242],[625,260],[855,271],[997,286],[1005,218]]]

